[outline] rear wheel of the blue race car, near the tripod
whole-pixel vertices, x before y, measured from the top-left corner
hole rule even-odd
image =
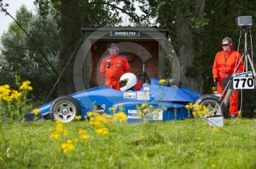
[[[214,108],[216,106],[216,113],[222,114],[222,116],[225,119],[228,118],[227,108],[225,106],[225,103],[222,103],[222,99],[219,99],[219,96],[217,95],[203,95],[200,98],[198,98],[194,104],[200,105],[200,106],[206,106],[209,111],[214,111]]]

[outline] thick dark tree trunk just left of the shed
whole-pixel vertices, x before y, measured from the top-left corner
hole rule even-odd
[[[86,16],[88,1],[61,0],[61,51],[59,54],[59,72],[67,64],[69,58],[83,36],[81,27]],[[73,83],[73,65],[75,56],[72,58],[59,81],[59,95],[68,95],[75,91]]]

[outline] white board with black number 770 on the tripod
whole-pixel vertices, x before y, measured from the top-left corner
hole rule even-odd
[[[254,89],[255,79],[252,76],[234,76],[233,89]]]

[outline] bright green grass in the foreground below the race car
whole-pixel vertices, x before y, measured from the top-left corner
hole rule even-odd
[[[4,125],[0,168],[256,168],[256,120],[225,121],[224,132],[202,119],[111,124],[97,135],[88,122],[64,124],[60,140],[50,138],[54,122]],[[63,153],[61,144],[89,130],[88,141]]]

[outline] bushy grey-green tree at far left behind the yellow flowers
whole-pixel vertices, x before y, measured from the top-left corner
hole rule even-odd
[[[51,15],[44,18],[34,16],[24,6],[17,11],[16,20],[57,67],[60,33],[56,20]],[[56,77],[41,52],[16,23],[11,23],[8,31],[2,34],[1,46],[1,84],[13,86],[12,79],[19,74],[24,79],[31,79],[34,86],[32,93],[37,99],[45,98]]]

